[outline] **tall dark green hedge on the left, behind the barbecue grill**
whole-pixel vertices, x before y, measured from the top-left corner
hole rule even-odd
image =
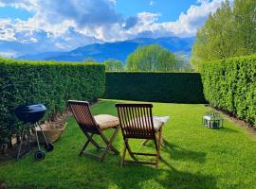
[[[41,102],[45,119],[63,112],[68,99],[92,100],[105,89],[101,64],[0,59],[0,141],[16,132],[13,108]]]

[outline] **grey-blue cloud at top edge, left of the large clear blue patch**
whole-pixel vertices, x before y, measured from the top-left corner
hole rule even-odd
[[[115,2],[108,0],[45,1],[38,0],[36,16],[51,24],[72,20],[77,26],[105,26],[119,22]],[[46,9],[47,8],[47,9]]]

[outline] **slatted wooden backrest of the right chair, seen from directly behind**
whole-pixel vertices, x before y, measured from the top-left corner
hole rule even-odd
[[[125,138],[154,138],[152,104],[116,104]]]

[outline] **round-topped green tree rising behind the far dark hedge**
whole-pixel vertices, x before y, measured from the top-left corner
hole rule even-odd
[[[158,44],[138,46],[126,60],[129,71],[177,71],[176,56]]]

